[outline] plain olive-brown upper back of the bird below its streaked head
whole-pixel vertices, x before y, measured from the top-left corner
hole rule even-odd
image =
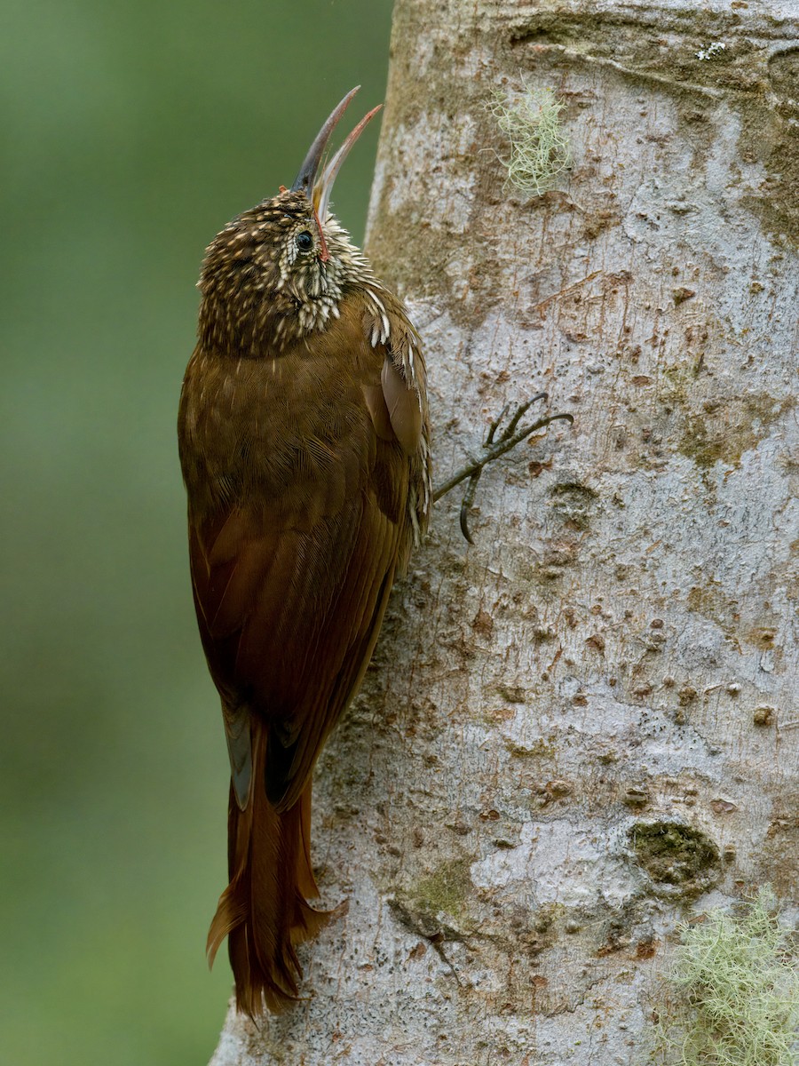
[[[382,362],[352,317],[282,354],[235,358],[198,348],[179,424],[190,504],[260,501],[315,513],[357,491],[374,464],[365,394],[379,386]]]

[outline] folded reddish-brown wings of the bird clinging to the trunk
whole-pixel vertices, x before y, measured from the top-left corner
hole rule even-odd
[[[202,513],[190,505],[197,615],[242,809],[251,772],[242,715],[268,727],[267,796],[288,810],[362,679],[408,538],[419,403],[385,352],[342,318],[360,371],[349,392],[315,422],[298,417],[291,447],[264,454],[247,442],[249,463],[271,464],[267,492],[259,491],[258,469],[247,470],[256,482],[249,491],[225,471],[224,499]],[[323,392],[324,345],[317,356],[305,385]]]

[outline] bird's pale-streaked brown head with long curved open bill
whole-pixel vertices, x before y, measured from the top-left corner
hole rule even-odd
[[[330,134],[358,90],[331,112],[291,189],[244,211],[206,249],[199,289],[200,329],[217,346],[258,354],[324,329],[348,282],[368,280],[369,264],[329,212],[330,193],[373,108],[325,161]]]

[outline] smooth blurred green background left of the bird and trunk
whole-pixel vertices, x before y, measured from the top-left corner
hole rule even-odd
[[[205,245],[382,99],[390,0],[0,9],[0,1061],[202,1064],[227,765],[175,419]],[[357,112],[357,114],[356,114]],[[337,184],[358,240],[377,128]]]

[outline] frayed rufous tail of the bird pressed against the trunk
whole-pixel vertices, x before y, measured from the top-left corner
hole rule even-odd
[[[263,780],[264,728],[254,728],[252,744],[252,786],[244,810],[230,787],[230,884],[216,907],[206,950],[213,965],[228,937],[235,1005],[255,1019],[264,1002],[279,1014],[297,998],[303,969],[295,946],[314,936],[329,915],[306,902],[306,897],[319,895],[310,854],[311,782],[293,807],[277,811]]]

